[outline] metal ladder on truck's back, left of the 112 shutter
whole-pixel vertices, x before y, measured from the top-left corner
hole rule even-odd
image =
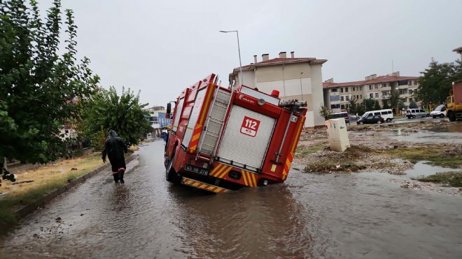
[[[210,106],[207,122],[202,132],[199,146],[197,147],[197,158],[213,162],[216,153],[218,139],[223,132],[223,124],[226,113],[230,106],[231,92],[217,86],[214,100]]]

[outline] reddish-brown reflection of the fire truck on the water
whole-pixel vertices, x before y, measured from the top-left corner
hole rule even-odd
[[[309,257],[308,215],[285,185],[172,195],[179,198],[174,224],[186,234],[183,246],[198,258]]]

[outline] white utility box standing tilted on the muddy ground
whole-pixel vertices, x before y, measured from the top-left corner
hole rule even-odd
[[[348,131],[344,118],[330,119],[325,121],[327,126],[330,150],[343,152],[350,146]]]

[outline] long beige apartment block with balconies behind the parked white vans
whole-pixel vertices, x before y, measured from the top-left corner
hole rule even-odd
[[[372,74],[364,80],[335,83],[333,78],[323,83],[325,106],[333,111],[346,110],[351,99],[360,104],[365,99],[379,101],[381,107],[389,103],[392,92],[398,92],[400,99],[408,107],[414,99],[414,92],[419,87],[416,76],[400,76],[400,72],[394,72],[386,76]],[[417,102],[420,105],[419,102]]]

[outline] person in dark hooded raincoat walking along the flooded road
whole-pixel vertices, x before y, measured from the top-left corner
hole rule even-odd
[[[114,176],[114,182],[125,183],[123,181],[123,175],[125,174],[125,153],[128,152],[127,145],[125,145],[122,138],[118,137],[117,133],[113,130],[109,130],[108,139],[104,142],[102,159],[106,162],[106,154],[108,155],[109,162],[111,162],[112,175]]]

